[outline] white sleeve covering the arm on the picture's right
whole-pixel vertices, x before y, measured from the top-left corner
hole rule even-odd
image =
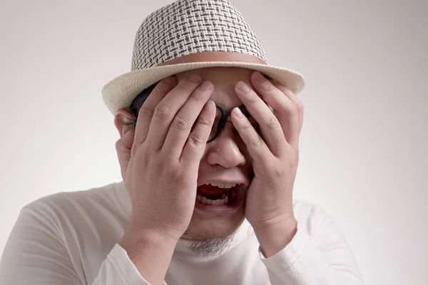
[[[330,217],[312,206],[297,216],[290,244],[270,258],[259,248],[272,285],[362,285],[351,249]]]

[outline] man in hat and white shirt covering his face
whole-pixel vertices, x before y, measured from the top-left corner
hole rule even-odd
[[[153,12],[132,70],[103,88],[123,182],[24,207],[2,284],[362,284],[331,219],[292,200],[303,78],[233,4]]]

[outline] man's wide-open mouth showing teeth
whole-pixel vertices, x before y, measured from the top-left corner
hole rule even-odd
[[[241,184],[210,183],[198,187],[196,201],[204,205],[234,207],[242,196]]]

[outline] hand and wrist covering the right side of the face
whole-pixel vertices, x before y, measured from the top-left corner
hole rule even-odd
[[[285,86],[268,81],[258,72],[253,73],[251,82],[261,98],[254,90],[245,92],[243,82],[237,83],[235,90],[258,122],[262,136],[245,116],[240,116],[238,108],[233,109],[232,121],[253,159],[255,177],[248,187],[245,217],[265,255],[273,255],[291,241],[297,229],[292,189],[299,161],[303,105]]]

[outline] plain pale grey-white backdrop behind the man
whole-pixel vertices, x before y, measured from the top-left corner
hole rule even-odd
[[[0,251],[25,204],[121,180],[101,88],[170,2],[1,1]],[[233,2],[307,81],[295,198],[335,219],[367,284],[428,284],[428,1]]]

